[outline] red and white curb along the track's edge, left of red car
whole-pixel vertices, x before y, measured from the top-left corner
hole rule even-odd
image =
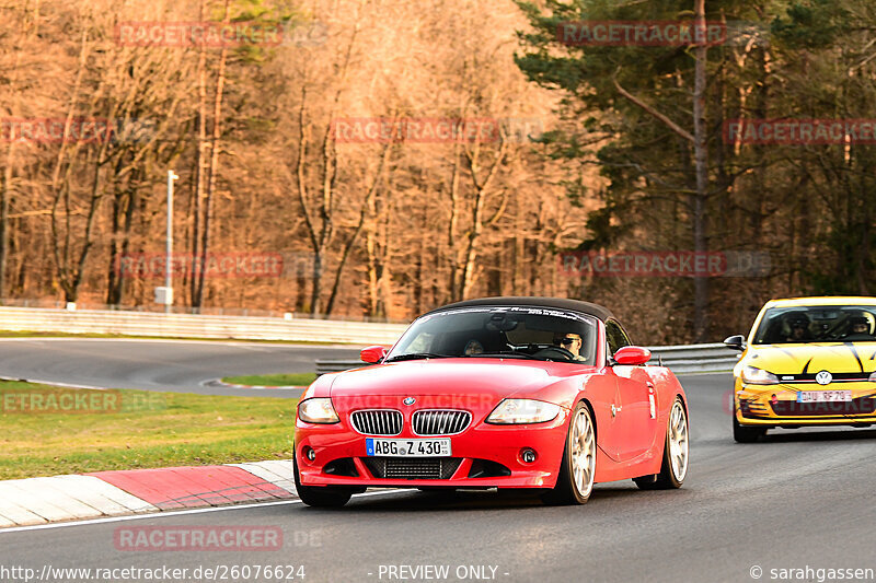
[[[0,481],[0,528],[298,498],[291,460]]]

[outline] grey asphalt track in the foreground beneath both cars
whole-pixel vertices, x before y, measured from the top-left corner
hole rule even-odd
[[[44,565],[168,565],[192,573],[198,567],[289,564],[303,565],[307,582],[335,583],[438,581],[410,571],[390,578],[391,565],[448,565],[447,581],[564,583],[819,581],[827,575],[818,569],[876,569],[876,432],[785,431],[762,443],[736,444],[724,405],[729,375],[681,380],[692,438],[681,490],[606,483],[575,508],[495,492],[378,491],[336,511],[283,502],[7,530],[0,532],[0,565],[37,573]],[[284,548],[116,549],[117,528],[146,525],[278,526]],[[486,569],[469,570],[477,565]],[[807,567],[812,571],[802,579],[772,571]],[[479,573],[481,579],[473,576]]]

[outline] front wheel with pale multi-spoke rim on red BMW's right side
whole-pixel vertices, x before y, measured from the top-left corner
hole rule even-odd
[[[585,504],[593,491],[596,425],[590,409],[578,403],[569,416],[556,486],[541,494],[552,505]]]

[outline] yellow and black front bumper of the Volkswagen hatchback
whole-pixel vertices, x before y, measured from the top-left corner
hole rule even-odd
[[[876,386],[869,382],[746,385],[737,380],[734,415],[744,425],[864,425],[876,423]],[[851,401],[797,403],[803,390],[851,390]]]

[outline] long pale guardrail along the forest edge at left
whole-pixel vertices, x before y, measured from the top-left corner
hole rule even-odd
[[[392,345],[405,324],[0,306],[0,329],[176,338]]]

